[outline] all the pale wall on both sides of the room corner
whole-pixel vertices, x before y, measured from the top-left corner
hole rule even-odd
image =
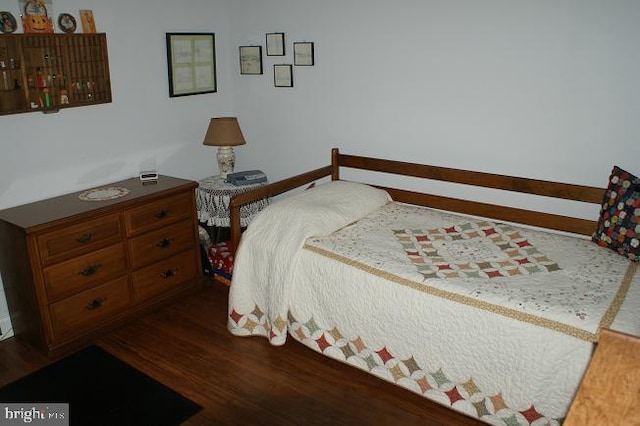
[[[327,164],[334,146],[594,186],[613,164],[640,173],[635,0],[54,0],[54,8],[93,9],[108,34],[114,102],[0,117],[0,208],[147,164],[207,175],[206,121],[228,113],[248,141],[236,149],[237,169],[263,169],[271,180]],[[0,10],[17,14],[17,0],[0,0]],[[217,94],[168,98],[167,31],[216,33]],[[262,76],[239,75],[238,46],[264,47],[275,31],[286,35],[286,57],[265,56]],[[293,41],[315,43],[316,65],[295,67],[295,87],[275,88],[271,67],[292,63]]]

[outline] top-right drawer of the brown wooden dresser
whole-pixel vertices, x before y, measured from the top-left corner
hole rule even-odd
[[[186,192],[126,210],[124,222],[128,235],[139,234],[192,216],[193,195]]]

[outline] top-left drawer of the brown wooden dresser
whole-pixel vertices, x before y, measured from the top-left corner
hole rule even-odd
[[[88,253],[122,239],[119,214],[87,220],[37,237],[40,260],[50,264]]]

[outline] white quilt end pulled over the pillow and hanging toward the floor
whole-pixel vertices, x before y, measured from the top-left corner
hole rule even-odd
[[[385,191],[346,181],[332,181],[289,197],[263,210],[245,231],[238,248],[229,306],[239,311],[265,310],[263,334],[284,344],[295,283],[291,272],[309,237],[330,234],[390,201]],[[231,327],[246,335],[246,329]]]

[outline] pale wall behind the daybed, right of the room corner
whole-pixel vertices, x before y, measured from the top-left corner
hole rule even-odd
[[[293,89],[273,87],[281,58],[234,76],[255,136],[238,155],[272,178],[324,165],[333,146],[594,186],[614,163],[640,173],[638,1],[245,0],[232,13],[236,44],[315,42]]]

